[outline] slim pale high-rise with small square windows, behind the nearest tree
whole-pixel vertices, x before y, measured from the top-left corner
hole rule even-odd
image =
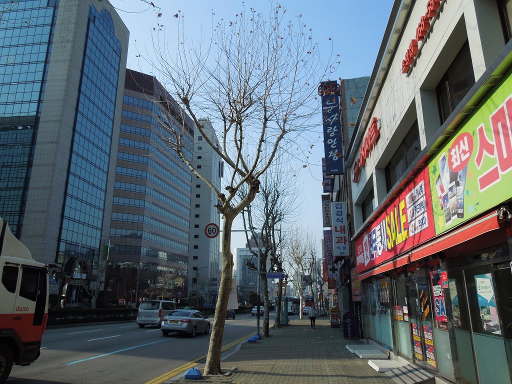
[[[219,141],[214,127],[208,119],[200,119],[203,137],[196,127],[194,136],[194,165],[198,172],[217,190],[221,187],[222,162],[220,155],[212,150],[214,145],[219,147]],[[211,143],[211,145],[207,142]],[[191,223],[190,229],[190,259],[188,262],[189,293],[199,295],[206,303],[214,303],[218,292],[219,274],[219,244],[220,236],[211,238],[206,233],[208,224],[220,224],[220,214],[216,205],[219,200],[214,192],[198,176],[193,176],[192,182]],[[210,237],[208,237],[210,236]]]

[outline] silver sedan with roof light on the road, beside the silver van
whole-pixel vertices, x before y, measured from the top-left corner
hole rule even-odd
[[[208,317],[194,309],[172,311],[162,321],[162,334],[164,336],[167,336],[169,332],[178,332],[194,337],[197,332],[208,333],[209,331],[210,321]]]

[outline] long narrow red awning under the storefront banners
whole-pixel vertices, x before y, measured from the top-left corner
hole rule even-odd
[[[432,254],[451,248],[465,241],[471,240],[481,234],[499,229],[498,215],[496,211],[490,212],[469,224],[464,225],[452,232],[443,234],[442,236],[429,241],[405,254],[400,255],[396,259],[383,263],[369,271],[359,274],[359,280],[367,279],[379,273],[391,271],[395,268],[403,267],[409,263],[426,258]]]

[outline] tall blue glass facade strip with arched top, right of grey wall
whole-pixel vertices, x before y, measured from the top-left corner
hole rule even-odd
[[[58,252],[94,260],[101,242],[121,47],[109,12],[90,7]]]

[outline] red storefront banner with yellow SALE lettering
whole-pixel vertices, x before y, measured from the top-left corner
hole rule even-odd
[[[356,271],[361,273],[386,262],[434,235],[429,171],[424,168],[355,239]]]

